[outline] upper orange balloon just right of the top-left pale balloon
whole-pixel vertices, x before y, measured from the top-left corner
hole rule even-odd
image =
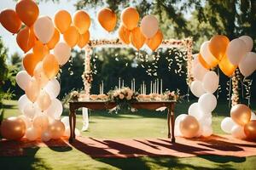
[[[55,26],[63,34],[72,23],[71,15],[66,10],[59,10],[55,14]]]

